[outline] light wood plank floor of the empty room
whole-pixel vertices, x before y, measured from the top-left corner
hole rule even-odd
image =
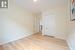
[[[27,38],[0,46],[0,50],[69,50],[65,40],[37,33]]]

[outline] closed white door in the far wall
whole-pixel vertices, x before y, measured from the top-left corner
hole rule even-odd
[[[54,36],[56,33],[56,23],[55,23],[55,16],[54,15],[47,15],[42,17],[42,24],[43,35],[50,35]]]

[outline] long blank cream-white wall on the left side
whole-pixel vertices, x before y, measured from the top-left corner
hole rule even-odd
[[[34,33],[34,15],[9,0],[8,9],[0,9],[2,17],[2,32],[0,32],[0,43],[7,43]]]

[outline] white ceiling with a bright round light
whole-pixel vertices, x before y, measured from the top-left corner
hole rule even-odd
[[[66,5],[67,0],[38,0],[37,2],[33,2],[33,0],[16,0],[16,2],[26,10],[37,13],[56,6]]]

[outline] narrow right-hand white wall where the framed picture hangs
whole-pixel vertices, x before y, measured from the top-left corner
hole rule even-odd
[[[70,20],[70,2],[71,0],[68,0],[68,8],[67,8],[67,26],[68,26],[68,37],[67,42],[70,47],[70,50],[75,50],[75,21]]]

